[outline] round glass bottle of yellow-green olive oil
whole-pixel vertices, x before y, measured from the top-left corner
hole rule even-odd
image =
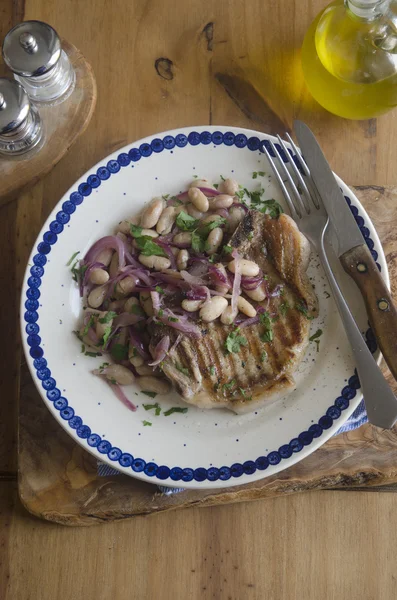
[[[369,119],[397,105],[397,0],[335,0],[310,26],[302,67],[331,113]]]

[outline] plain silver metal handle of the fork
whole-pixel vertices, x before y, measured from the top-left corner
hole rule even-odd
[[[357,373],[360,378],[361,389],[364,395],[368,420],[377,427],[391,429],[397,420],[397,398],[393,394],[382,371],[369,351],[367,344],[361,335],[361,331],[343,297],[338,282],[334,277],[324,249],[324,234],[326,229],[327,227],[323,231],[320,243],[316,244],[316,249],[327,275],[336,306],[352,348]]]

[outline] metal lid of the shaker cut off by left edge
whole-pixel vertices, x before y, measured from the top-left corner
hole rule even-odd
[[[21,84],[0,77],[0,135],[17,129],[28,116],[29,110],[29,98]]]

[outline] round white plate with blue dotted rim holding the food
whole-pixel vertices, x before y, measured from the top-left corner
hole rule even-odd
[[[156,417],[148,398],[125,388],[138,405],[130,412],[100,378],[91,374],[103,358],[81,354],[73,335],[82,312],[68,259],[81,256],[117,223],[137,213],[153,196],[176,194],[194,176],[219,181],[233,177],[250,190],[284,205],[270,176],[263,145],[275,138],[231,127],[169,131],[127,146],[90,169],[60,200],[34,245],[22,290],[22,338],[28,365],[44,403],[57,421],[99,461],[152,483],[185,487],[227,487],[274,475],[316,450],[334,435],[362,398],[350,347],[325,274],[312,254],[309,276],[320,303],[311,342],[295,391],[246,415],[200,410]],[[265,177],[253,179],[253,172]],[[385,257],[368,215],[338,179],[358,225],[388,281]],[[329,240],[332,254],[332,239]],[[333,256],[335,273],[362,331],[364,304],[354,283]],[[376,351],[371,331],[368,344]],[[318,351],[317,351],[318,350]],[[157,397],[166,410],[184,406],[175,393]],[[143,421],[150,421],[145,426]]]

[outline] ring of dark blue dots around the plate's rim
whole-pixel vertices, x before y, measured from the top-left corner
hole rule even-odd
[[[173,482],[203,482],[203,481],[228,481],[231,477],[239,478],[242,475],[253,475],[256,471],[265,471],[269,466],[278,465],[282,460],[290,458],[294,453],[300,452],[304,447],[310,446],[312,442],[321,437],[321,435],[329,429],[334,421],[337,421],[342,413],[346,411],[350,405],[350,401],[356,396],[357,390],[360,388],[360,382],[356,371],[352,375],[347,385],[345,385],[340,396],[336,398],[333,405],[330,406],[325,415],[320,417],[317,423],[308,427],[306,431],[302,431],[297,437],[290,440],[287,444],[279,447],[278,450],[273,450],[267,455],[259,456],[255,460],[247,460],[243,464],[234,463],[231,466],[222,467],[197,467],[192,469],[189,467],[168,467],[167,465],[157,465],[154,462],[146,462],[143,458],[135,458],[128,452],[123,452],[120,448],[103,439],[97,433],[93,433],[91,428],[83,423],[81,417],[75,414],[74,409],[69,405],[67,398],[62,396],[60,389],[57,387],[57,382],[51,377],[51,370],[44,356],[44,350],[41,346],[39,320],[39,297],[40,285],[45,274],[45,265],[47,263],[47,255],[50,254],[51,248],[56,244],[58,236],[62,234],[64,226],[69,223],[72,215],[77,210],[77,207],[82,204],[84,198],[92,193],[93,189],[98,188],[103,182],[110,177],[116,175],[124,167],[128,167],[141,159],[151,156],[153,153],[163,151],[171,151],[174,147],[185,148],[186,146],[197,146],[199,144],[216,146],[224,144],[226,146],[236,146],[237,148],[248,148],[250,151],[259,151],[263,154],[263,146],[265,145],[270,154],[275,157],[272,147],[268,139],[259,139],[256,136],[247,137],[243,133],[234,134],[231,131],[222,133],[215,131],[191,131],[188,135],[179,133],[177,135],[165,135],[164,138],[154,138],[150,143],[142,143],[139,147],[133,147],[128,152],[122,152],[117,156],[117,159],[112,159],[106,165],[100,166],[96,173],[92,173],[87,177],[87,181],[80,183],[77,190],[73,191],[69,200],[62,204],[60,210],[49,225],[41,241],[37,245],[37,254],[33,256],[33,266],[30,268],[30,277],[27,280],[27,291],[23,320],[26,323],[26,343],[29,346],[29,354],[33,359],[33,367],[36,371],[37,379],[46,392],[47,399],[53,403],[54,408],[59,411],[61,418],[66,421],[70,428],[76,431],[76,434],[82,440],[85,440],[90,450],[97,450],[98,458],[103,460],[104,456],[113,461],[118,462],[123,468],[131,468],[133,473],[144,473],[147,477],[156,477],[161,481],[170,479]],[[299,160],[296,155],[287,157],[278,144],[275,144],[278,153],[284,162],[292,159],[299,165]],[[265,156],[265,155],[264,155]],[[374,249],[374,241],[370,237],[370,231],[365,225],[365,220],[360,215],[359,209],[351,201],[348,196],[345,196],[352,214],[360,227],[368,248],[375,261],[378,259],[378,253]],[[381,270],[377,263],[378,269]],[[377,344],[375,337],[369,329],[366,332],[366,342],[371,350],[375,352]]]

